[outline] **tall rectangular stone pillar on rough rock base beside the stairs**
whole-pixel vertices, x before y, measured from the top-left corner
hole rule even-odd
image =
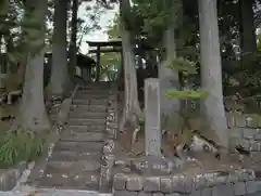
[[[170,161],[161,155],[160,84],[157,78],[145,80],[145,154],[133,160],[142,174],[167,174],[172,170]]]

